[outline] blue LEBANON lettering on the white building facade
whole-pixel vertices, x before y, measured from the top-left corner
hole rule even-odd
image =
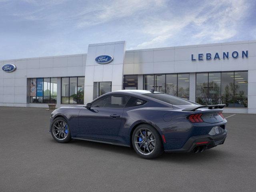
[[[247,51],[242,51],[242,58],[248,58],[248,50]],[[206,56],[204,57],[204,54],[200,53],[198,54],[198,57],[194,56],[193,54],[191,54],[191,61],[196,61],[198,59],[198,61],[203,61],[204,58],[206,60],[211,60],[211,59],[229,59],[229,58],[238,58],[239,57],[239,53],[237,51],[233,51],[231,52],[223,52],[223,54],[219,54],[218,52],[216,52],[215,54],[211,54],[211,53],[206,53]]]

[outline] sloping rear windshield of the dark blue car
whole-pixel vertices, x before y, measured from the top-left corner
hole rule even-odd
[[[146,94],[142,94],[144,96],[148,96],[151,98],[155,98],[157,100],[172,104],[172,105],[191,105],[194,104],[193,102],[190,102],[188,100],[179,98],[179,97],[175,97],[172,95],[168,95],[165,93],[146,93]]]

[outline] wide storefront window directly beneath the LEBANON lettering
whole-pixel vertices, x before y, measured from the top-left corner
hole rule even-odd
[[[196,74],[196,102],[203,105],[226,104],[247,107],[248,72],[210,72]]]

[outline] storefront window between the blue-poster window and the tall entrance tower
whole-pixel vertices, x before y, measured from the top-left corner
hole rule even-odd
[[[61,78],[61,103],[84,104],[84,77]]]

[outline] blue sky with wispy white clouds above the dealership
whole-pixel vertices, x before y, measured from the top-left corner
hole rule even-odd
[[[0,0],[0,60],[256,40],[256,0]]]

